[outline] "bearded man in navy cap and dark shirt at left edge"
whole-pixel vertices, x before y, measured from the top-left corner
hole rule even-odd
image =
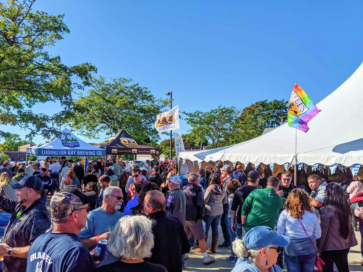
[[[50,218],[41,198],[40,178],[28,175],[10,186],[17,189],[18,201],[0,196],[0,209],[12,214],[0,245],[3,271],[26,271],[29,247],[50,227]]]

